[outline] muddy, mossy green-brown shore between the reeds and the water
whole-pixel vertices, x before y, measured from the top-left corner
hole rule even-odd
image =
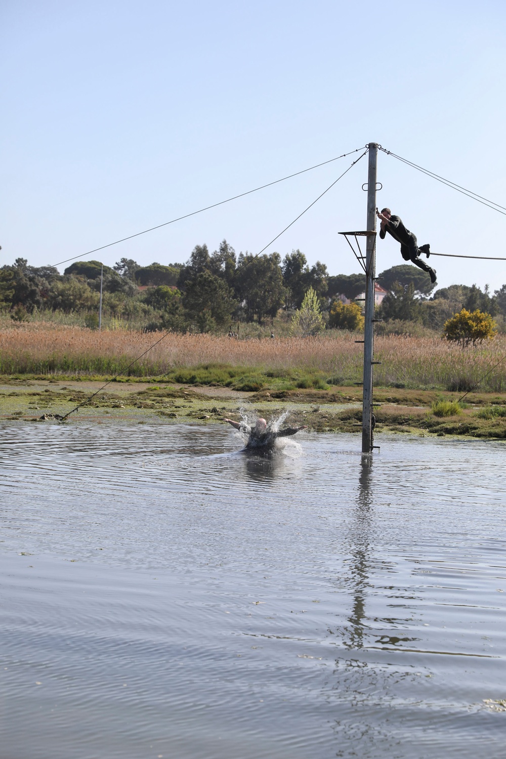
[[[206,424],[224,417],[239,419],[247,408],[269,419],[288,411],[289,424],[306,424],[316,432],[359,433],[361,430],[360,386],[332,390],[241,392],[218,386],[185,386],[157,381],[121,379],[0,378],[0,419],[9,423],[48,422],[68,414],[66,424]],[[90,395],[97,395],[90,401]],[[406,432],[419,435],[452,435],[506,439],[506,417],[482,418],[480,410],[506,405],[506,393],[473,392],[465,398],[461,414],[437,417],[432,402],[457,400],[458,394],[436,390],[376,388],[376,434]]]

